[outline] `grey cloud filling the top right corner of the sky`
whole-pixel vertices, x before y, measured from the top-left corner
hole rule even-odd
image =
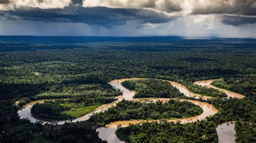
[[[234,14],[244,16],[256,16],[255,0],[214,0],[193,4],[193,15],[208,14]]]

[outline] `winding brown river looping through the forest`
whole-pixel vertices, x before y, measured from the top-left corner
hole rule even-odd
[[[110,108],[111,106],[116,105],[117,102],[122,101],[122,99],[126,99],[126,100],[130,100],[130,101],[140,101],[140,102],[145,102],[142,99],[134,99],[133,96],[135,95],[136,92],[128,90],[126,88],[124,88],[121,85],[121,82],[127,81],[127,80],[139,80],[139,79],[145,79],[145,78],[124,78],[124,79],[120,79],[120,80],[113,80],[111,82],[109,82],[114,88],[116,89],[120,89],[123,92],[122,96],[118,96],[117,97],[117,101],[110,103],[110,104],[104,104],[102,106],[99,106],[97,109],[95,109],[94,111],[88,113],[87,115],[74,119],[74,120],[63,120],[63,121],[56,121],[56,120],[48,120],[48,119],[42,119],[42,118],[36,118],[33,117],[31,115],[31,108],[33,106],[33,104],[36,103],[43,103],[44,101],[34,101],[31,103],[26,104],[25,106],[23,106],[22,109],[18,110],[18,115],[21,118],[28,118],[32,123],[36,123],[36,121],[42,121],[43,124],[45,123],[50,123],[50,124],[64,124],[65,122],[77,122],[77,121],[83,121],[83,120],[87,120],[90,118],[90,116],[93,113],[97,113],[97,112],[101,112],[104,111],[108,108]],[[165,80],[166,81],[166,80]],[[191,92],[190,90],[188,90],[184,85],[179,84],[177,82],[173,82],[173,81],[167,81],[169,82],[171,85],[173,85],[173,87],[176,87],[181,93],[183,93],[185,96],[187,97],[195,97],[195,98],[199,98],[202,97],[198,94],[194,94],[193,92]],[[223,89],[219,89],[216,88],[214,86],[211,85],[212,80],[208,80],[208,81],[197,81],[195,82],[195,84],[198,85],[203,85],[206,86],[208,88],[215,88],[218,90],[222,90],[225,93],[227,92],[227,90],[223,90]],[[243,95],[228,91],[229,95],[228,97],[237,97],[237,98],[243,98]],[[203,99],[208,99],[211,97],[207,97],[207,96],[203,96]],[[151,101],[169,101],[170,98],[150,98]],[[173,98],[175,99],[175,98]],[[169,120],[169,121],[180,121],[181,123],[190,123],[192,121],[196,121],[196,120],[203,120],[208,116],[212,116],[215,113],[218,112],[217,109],[215,109],[211,104],[205,103],[205,102],[199,102],[199,101],[194,101],[194,100],[190,100],[190,99],[177,99],[179,101],[188,101],[191,102],[193,104],[199,105],[202,109],[203,109],[203,113],[199,116],[195,116],[195,117],[190,117],[190,118],[186,118],[186,119],[173,119],[173,120]],[[97,131],[99,132],[99,138],[101,138],[102,140],[106,140],[107,142],[123,142],[121,140],[119,140],[115,134],[116,130],[117,130],[117,125],[122,125],[122,127],[124,126],[129,126],[129,124],[139,124],[139,123],[143,123],[146,120],[124,120],[124,121],[114,121],[111,124],[106,125],[105,127],[99,127],[97,128]],[[149,120],[149,122],[152,121],[158,121],[159,120]],[[220,136],[219,136],[220,138]]]

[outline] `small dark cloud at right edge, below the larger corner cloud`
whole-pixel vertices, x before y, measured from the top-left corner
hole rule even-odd
[[[226,25],[239,26],[242,24],[256,23],[256,17],[242,17],[242,16],[227,16],[222,17],[221,22]]]

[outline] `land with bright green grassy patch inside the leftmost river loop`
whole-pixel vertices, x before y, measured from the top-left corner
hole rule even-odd
[[[56,99],[35,104],[31,108],[32,115],[46,119],[75,119],[95,110],[100,105],[116,101],[114,97],[86,96],[69,99]]]

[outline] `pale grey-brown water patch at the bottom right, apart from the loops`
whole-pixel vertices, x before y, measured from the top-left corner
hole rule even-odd
[[[220,124],[217,128],[218,139],[220,143],[235,142],[235,123],[227,122]]]

